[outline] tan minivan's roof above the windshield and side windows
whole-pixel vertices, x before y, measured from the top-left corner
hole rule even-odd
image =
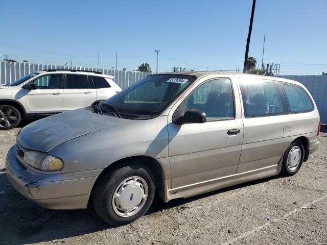
[[[252,78],[258,78],[258,79],[269,79],[269,80],[275,80],[275,81],[281,81],[281,82],[287,82],[287,83],[293,83],[300,86],[303,86],[301,83],[296,82],[294,80],[285,79],[285,78],[279,78],[274,76],[264,76],[264,75],[255,75],[255,74],[243,74],[243,73],[237,73],[237,72],[222,72],[222,71],[177,71],[177,72],[162,72],[157,75],[190,75],[195,76],[197,79],[200,79],[202,77],[208,76],[208,75],[228,75],[228,76],[235,76],[237,78],[241,77],[252,77]],[[156,74],[155,74],[156,75]],[[152,76],[152,75],[151,75]]]

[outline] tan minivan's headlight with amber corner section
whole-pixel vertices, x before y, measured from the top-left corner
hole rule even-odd
[[[63,162],[59,158],[34,151],[25,152],[24,162],[42,171],[56,171],[63,168]]]

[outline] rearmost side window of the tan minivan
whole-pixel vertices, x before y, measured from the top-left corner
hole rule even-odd
[[[309,94],[300,86],[282,83],[291,113],[308,112],[314,109]]]

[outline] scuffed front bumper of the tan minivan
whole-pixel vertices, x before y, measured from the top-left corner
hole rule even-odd
[[[19,193],[49,209],[86,208],[92,187],[101,172],[93,170],[73,174],[37,173],[17,160],[15,145],[7,154],[6,168],[10,183]]]

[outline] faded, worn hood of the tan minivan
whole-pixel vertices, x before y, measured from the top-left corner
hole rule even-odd
[[[32,122],[19,131],[17,142],[29,150],[49,152],[68,140],[124,121],[128,120],[92,113],[82,108]]]

